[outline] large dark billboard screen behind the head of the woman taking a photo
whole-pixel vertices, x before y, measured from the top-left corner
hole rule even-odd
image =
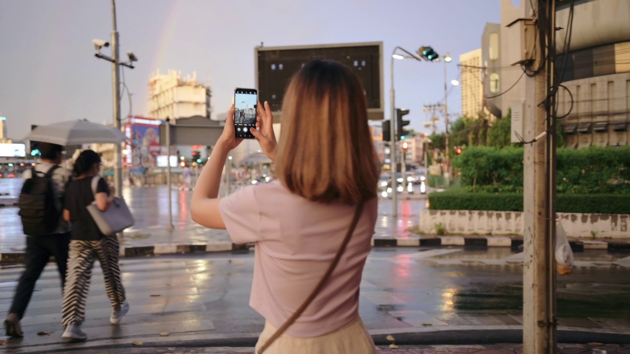
[[[280,111],[289,79],[315,59],[341,62],[357,74],[365,88],[369,118],[382,120],[384,108],[382,42],[256,47],[256,88],[260,101]]]

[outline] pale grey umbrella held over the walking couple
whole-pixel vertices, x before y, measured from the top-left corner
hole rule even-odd
[[[109,125],[92,123],[88,120],[69,120],[41,125],[33,129],[25,140],[68,146],[92,143],[118,144],[127,140],[127,136]]]

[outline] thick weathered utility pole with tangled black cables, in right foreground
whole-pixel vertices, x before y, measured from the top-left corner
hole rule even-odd
[[[547,100],[553,85],[555,52],[555,1],[525,1],[525,13],[534,13],[536,25],[525,19],[525,33],[535,38],[537,57],[532,68],[545,66],[534,77],[525,79],[524,106],[524,274],[523,274],[523,351],[525,354],[555,353],[556,322],[556,263],[555,249],[555,134],[554,118]],[[532,11],[533,10],[533,11]],[[547,21],[541,21],[546,17]],[[542,30],[540,23],[547,23]],[[532,31],[533,30],[533,31]],[[536,32],[536,34],[531,33]],[[547,35],[548,34],[548,35]],[[539,38],[546,38],[541,44]],[[528,40],[522,45],[525,47]],[[531,43],[534,43],[531,42]],[[541,48],[541,45],[544,46]],[[546,144],[541,141],[544,132]],[[537,141],[538,140],[538,141]]]

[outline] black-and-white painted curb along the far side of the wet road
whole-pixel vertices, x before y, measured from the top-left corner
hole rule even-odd
[[[374,248],[387,247],[442,247],[458,246],[464,248],[490,248],[510,247],[518,249],[522,246],[522,239],[511,239],[508,236],[488,237],[464,237],[464,236],[439,236],[424,239],[372,239]],[[605,249],[607,251],[630,251],[630,243],[604,242],[604,241],[570,241],[574,252],[585,249]],[[189,254],[189,253],[249,253],[253,251],[255,243],[235,244],[229,242],[220,243],[195,243],[195,244],[155,244],[153,246],[121,247],[120,257],[151,257],[163,254]],[[0,264],[15,264],[24,262],[24,253],[0,253]]]

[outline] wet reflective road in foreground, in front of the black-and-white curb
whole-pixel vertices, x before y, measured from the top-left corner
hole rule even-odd
[[[512,255],[508,249],[484,252],[486,258],[496,260]],[[591,253],[585,251],[580,257],[601,256]],[[481,256],[482,251],[449,248],[374,249],[361,285],[360,314],[367,328],[395,332],[428,326],[520,324],[522,266],[509,261],[502,265],[475,263]],[[620,259],[628,254],[609,256]],[[454,260],[459,263],[452,263]],[[89,341],[62,344],[61,292],[50,265],[23,320],[27,335],[21,341],[5,343],[7,352],[78,349],[112,338],[122,342],[156,338],[161,332],[168,332],[173,340],[234,338],[255,335],[263,327],[263,319],[248,306],[253,254],[190,254],[121,263],[131,304],[123,324],[108,323],[110,306],[100,271],[95,268],[84,324]],[[0,269],[0,312],[9,307],[20,272],[20,267]],[[628,295],[630,268],[578,268],[570,277],[559,278],[559,325],[630,329]],[[38,331],[52,333],[37,336]]]

